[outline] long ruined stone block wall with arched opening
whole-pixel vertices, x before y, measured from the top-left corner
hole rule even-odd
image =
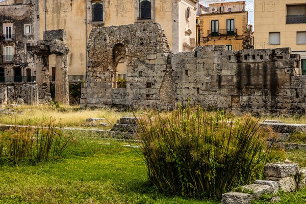
[[[290,48],[227,51],[225,46],[170,53],[158,23],[94,28],[81,105],[200,104],[237,113],[305,113],[306,76]],[[126,63],[126,88],[117,65]]]

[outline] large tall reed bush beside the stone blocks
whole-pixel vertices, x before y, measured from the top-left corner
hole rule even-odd
[[[220,111],[180,106],[169,114],[156,110],[139,125],[148,177],[164,192],[221,198],[260,177],[269,158],[266,133],[251,116],[234,122]]]

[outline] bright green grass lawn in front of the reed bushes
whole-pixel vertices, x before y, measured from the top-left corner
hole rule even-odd
[[[0,168],[0,203],[219,203],[160,194],[139,154],[115,141],[82,139],[61,160]]]

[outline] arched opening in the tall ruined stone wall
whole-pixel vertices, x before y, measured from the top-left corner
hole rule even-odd
[[[126,49],[118,43],[113,47],[114,71],[112,76],[113,88],[126,88]]]

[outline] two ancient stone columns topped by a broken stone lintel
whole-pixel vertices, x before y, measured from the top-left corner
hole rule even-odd
[[[49,55],[56,55],[55,101],[69,105],[69,82],[65,30],[45,31],[43,40],[28,51],[36,55],[36,83],[39,87],[39,99],[50,100]]]

